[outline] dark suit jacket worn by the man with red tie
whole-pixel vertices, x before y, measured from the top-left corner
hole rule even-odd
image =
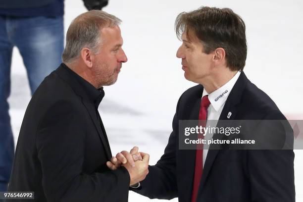
[[[202,92],[203,87],[197,85],[182,94],[164,154],[149,167],[141,189],[133,191],[151,199],[191,201],[196,151],[179,150],[178,122],[199,119]],[[243,72],[219,121],[227,119],[229,111],[233,112],[230,120],[285,120],[276,104]],[[293,150],[209,150],[197,202],[295,202]]]

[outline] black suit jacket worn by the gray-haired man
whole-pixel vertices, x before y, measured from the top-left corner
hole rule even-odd
[[[112,154],[96,106],[69,71],[61,65],[33,95],[8,190],[35,192],[37,202],[127,202],[128,171],[107,168]]]

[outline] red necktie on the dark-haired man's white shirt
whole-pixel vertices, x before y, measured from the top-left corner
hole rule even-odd
[[[200,112],[199,112],[199,125],[202,127],[205,127],[206,125],[206,114],[207,114],[207,108],[210,104],[210,101],[208,100],[208,96],[203,96],[201,105],[200,105]],[[198,134],[198,139],[203,139],[203,134]],[[203,173],[203,144],[197,145],[196,150],[196,164],[195,164],[195,177],[194,177],[194,186],[193,186],[193,194],[192,194],[192,202],[196,202],[198,191],[199,191],[199,185],[202,178]]]

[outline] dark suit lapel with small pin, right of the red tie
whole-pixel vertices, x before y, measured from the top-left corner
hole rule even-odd
[[[239,103],[241,102],[241,97],[243,94],[243,91],[246,87],[246,84],[249,80],[247,79],[247,77],[245,76],[244,72],[241,72],[237,82],[235,83],[233,89],[231,90],[225,105],[223,107],[223,110],[220,114],[220,118],[217,124],[217,127],[228,127],[232,120],[235,119],[239,107],[237,107],[239,105]],[[231,116],[229,118],[227,118],[228,113],[231,112]],[[220,121],[220,120],[230,120],[228,122],[226,121]],[[224,134],[214,134],[215,139],[223,139]],[[199,193],[203,190],[204,184],[206,182],[207,176],[211,170],[211,167],[213,165],[213,162],[219,152],[221,148],[221,145],[210,145],[209,150],[207,152],[207,157],[205,160],[205,164],[203,166],[203,174],[202,174],[202,179],[200,182],[200,187],[199,187]],[[198,194],[199,196],[199,194]]]

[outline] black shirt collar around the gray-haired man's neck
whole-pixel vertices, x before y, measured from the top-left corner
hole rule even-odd
[[[88,95],[88,98],[90,101],[94,102],[96,107],[98,108],[100,102],[102,101],[104,97],[104,91],[103,87],[100,89],[96,89],[91,83],[83,79],[81,76],[79,76],[76,72],[71,70],[69,67],[66,66],[66,64],[62,63],[63,67],[68,70],[68,72],[77,79],[77,81],[83,86],[85,92]]]

